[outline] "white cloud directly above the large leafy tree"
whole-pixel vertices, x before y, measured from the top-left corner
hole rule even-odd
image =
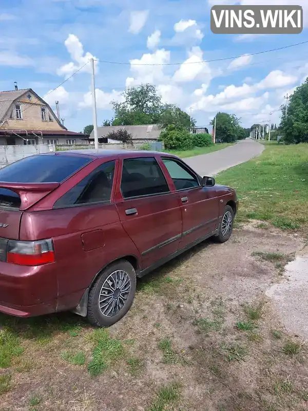
[[[153,53],[145,53],[141,59],[130,60],[130,71],[133,78],[126,79],[126,85],[138,85],[141,83],[161,84],[166,80],[164,66],[151,64],[166,64],[170,61],[170,51],[158,49]]]

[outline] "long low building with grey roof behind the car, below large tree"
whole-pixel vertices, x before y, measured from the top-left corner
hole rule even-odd
[[[136,143],[157,141],[162,132],[160,124],[103,126],[98,127],[99,143],[113,142],[110,141],[110,139],[107,139],[107,136],[118,130],[126,130],[127,133],[131,134],[132,140]],[[91,142],[94,141],[94,130],[92,131],[89,140]]]

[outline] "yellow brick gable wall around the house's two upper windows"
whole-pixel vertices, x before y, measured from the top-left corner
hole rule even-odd
[[[30,100],[28,94],[31,95]],[[22,119],[16,119],[15,104],[20,104],[22,109]],[[46,121],[42,120],[41,107],[46,108]],[[52,121],[49,121],[49,115]],[[12,117],[11,117],[12,116]],[[11,118],[10,118],[11,117]],[[14,101],[7,113],[6,121],[1,130],[63,130],[64,128],[57,122],[55,114],[46,104],[37,99],[33,94],[26,92],[19,100]]]

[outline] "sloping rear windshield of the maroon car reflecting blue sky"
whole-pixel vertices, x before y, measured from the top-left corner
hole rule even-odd
[[[90,161],[91,157],[63,154],[26,157],[0,169],[0,182],[60,183]]]

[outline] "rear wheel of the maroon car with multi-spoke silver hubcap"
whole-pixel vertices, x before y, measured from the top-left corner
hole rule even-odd
[[[136,291],[136,272],[128,261],[106,267],[95,279],[88,296],[87,319],[95,327],[109,327],[130,309]]]

